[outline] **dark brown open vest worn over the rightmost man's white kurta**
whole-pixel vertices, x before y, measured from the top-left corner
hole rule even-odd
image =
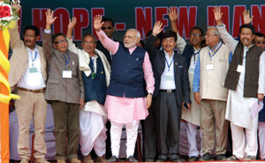
[[[262,52],[263,50],[257,46],[253,46],[246,51],[246,71],[243,97],[257,97],[259,88],[260,57]],[[224,87],[227,89],[237,89],[240,76],[237,69],[239,65],[242,65],[243,54],[244,45],[239,42],[231,60],[228,73],[226,74]]]

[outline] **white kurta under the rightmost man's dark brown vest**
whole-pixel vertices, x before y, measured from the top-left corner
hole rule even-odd
[[[225,29],[225,26],[218,27],[223,42],[229,47],[232,53],[236,49],[236,41]],[[242,66],[246,69],[246,51],[248,48],[244,46],[244,58]],[[261,54],[260,58],[260,72],[259,72],[259,88],[258,93],[264,94],[265,84],[265,52]],[[250,113],[250,106],[256,101],[257,97],[243,97],[244,94],[245,73],[240,73],[239,84],[236,90],[229,89],[228,100],[226,105],[225,119],[230,120],[231,123],[242,128],[252,128],[253,118]]]

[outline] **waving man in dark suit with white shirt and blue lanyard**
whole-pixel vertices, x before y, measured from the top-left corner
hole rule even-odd
[[[157,161],[166,161],[168,158],[171,161],[183,161],[179,156],[179,126],[181,106],[190,108],[190,84],[186,60],[174,51],[177,43],[176,33],[171,30],[163,33],[163,50],[155,49],[156,35],[162,30],[162,23],[156,22],[153,33],[146,43],[155,76],[155,99],[153,111],[149,112],[154,112],[156,124],[150,125],[148,129],[152,132],[152,126],[158,127],[156,128]],[[155,136],[155,133],[152,136]]]

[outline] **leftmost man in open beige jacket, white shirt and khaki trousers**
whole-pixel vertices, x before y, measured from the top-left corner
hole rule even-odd
[[[9,82],[11,90],[16,87],[18,95],[16,112],[19,120],[18,151],[21,163],[30,158],[29,127],[34,118],[34,158],[36,163],[48,163],[44,141],[44,128],[47,103],[44,99],[46,87],[46,59],[41,46],[36,45],[39,29],[27,26],[24,29],[24,41],[20,40],[18,26],[10,29],[12,56]]]

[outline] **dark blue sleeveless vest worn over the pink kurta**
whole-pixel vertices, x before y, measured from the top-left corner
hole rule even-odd
[[[143,61],[146,50],[137,47],[130,54],[124,43],[119,43],[112,56],[110,86],[107,94],[115,97],[145,97]]]

